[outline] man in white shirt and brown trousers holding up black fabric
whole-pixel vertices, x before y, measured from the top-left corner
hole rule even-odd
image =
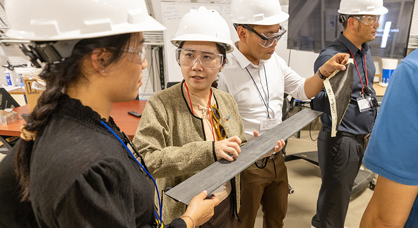
[[[227,55],[218,88],[232,94],[238,104],[248,140],[282,122],[284,93],[305,100],[321,91],[323,81],[336,70],[344,70],[349,55],[337,54],[319,73],[304,79],[275,53],[286,32],[280,23],[289,15],[279,0],[233,0],[231,22],[240,41]],[[262,204],[263,227],[282,227],[287,210],[287,170],[281,152],[259,161],[260,169],[241,173],[241,209],[238,227],[254,227]]]

